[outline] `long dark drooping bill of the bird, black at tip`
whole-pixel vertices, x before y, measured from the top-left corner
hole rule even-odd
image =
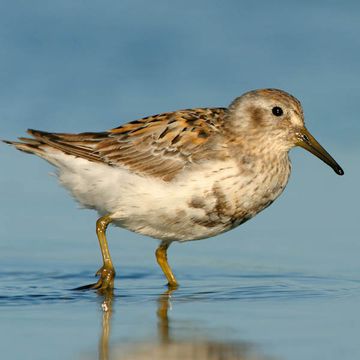
[[[334,169],[338,175],[344,175],[344,170],[340,165],[332,158],[332,156],[316,141],[316,139],[310,134],[307,129],[301,129],[297,134],[296,145],[310,151],[317,156],[325,164],[328,164]]]

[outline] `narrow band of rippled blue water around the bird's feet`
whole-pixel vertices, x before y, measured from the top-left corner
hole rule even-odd
[[[122,273],[118,277],[115,298],[125,302],[146,302],[158,299],[165,291],[162,274],[146,269]],[[188,271],[188,269],[187,269]],[[186,272],[187,272],[186,271]],[[360,294],[360,281],[346,277],[315,276],[303,273],[249,272],[194,276],[178,272],[183,279],[173,293],[175,302],[187,301],[297,301],[324,297]],[[89,272],[21,272],[1,273],[0,305],[24,306],[63,302],[98,301],[93,291],[74,291],[75,287],[92,282]]]

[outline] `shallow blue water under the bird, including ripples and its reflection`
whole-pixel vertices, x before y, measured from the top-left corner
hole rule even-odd
[[[125,264],[124,264],[125,265]],[[360,281],[351,277],[124,266],[113,294],[74,291],[88,271],[1,273],[8,359],[356,358]],[[350,356],[350,357],[348,357]]]

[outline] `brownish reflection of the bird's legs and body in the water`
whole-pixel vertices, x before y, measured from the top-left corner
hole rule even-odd
[[[99,341],[99,360],[264,360],[268,357],[254,353],[254,347],[245,342],[227,343],[210,339],[176,339],[171,334],[168,310],[170,298],[176,290],[168,290],[158,299],[158,342],[140,342],[132,346],[109,348],[113,293],[102,294],[102,331]]]

